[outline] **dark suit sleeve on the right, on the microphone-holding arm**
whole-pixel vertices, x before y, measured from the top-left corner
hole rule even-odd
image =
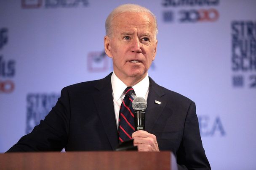
[[[177,163],[179,170],[211,170],[203,149],[194,102],[190,103],[187,111]]]

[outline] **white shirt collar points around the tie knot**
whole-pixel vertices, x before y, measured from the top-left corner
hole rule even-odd
[[[123,92],[125,88],[127,87],[123,81],[121,81],[113,72],[111,76],[111,84],[112,84],[112,93],[113,93],[113,98],[115,101],[117,101],[120,97],[123,96]],[[136,85],[132,86],[136,97],[143,97],[146,99],[146,94],[149,89],[149,75],[145,76],[139,83]]]

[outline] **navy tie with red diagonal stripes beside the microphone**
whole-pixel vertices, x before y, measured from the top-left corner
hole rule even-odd
[[[125,98],[120,106],[119,110],[119,141],[120,143],[123,141],[128,141],[131,139],[131,134],[134,132],[134,115],[132,102],[134,90],[132,87],[127,87],[125,89]]]

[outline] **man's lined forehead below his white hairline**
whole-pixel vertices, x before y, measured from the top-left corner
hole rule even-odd
[[[114,31],[136,28],[152,32],[154,30],[154,19],[149,13],[126,12],[115,16],[112,26]]]

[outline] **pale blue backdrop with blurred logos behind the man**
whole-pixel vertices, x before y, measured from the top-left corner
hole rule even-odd
[[[118,5],[155,13],[149,76],[197,105],[213,170],[253,170],[255,0],[0,0],[0,152],[29,133],[64,86],[112,71],[104,23]]]

